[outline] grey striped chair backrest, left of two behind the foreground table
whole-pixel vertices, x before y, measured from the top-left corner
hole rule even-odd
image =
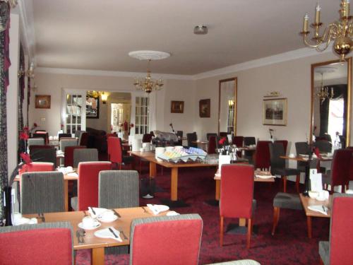
[[[21,213],[65,211],[63,173],[25,172],[21,175],[20,185]]]

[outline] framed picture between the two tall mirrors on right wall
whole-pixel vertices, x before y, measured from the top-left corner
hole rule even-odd
[[[287,98],[263,100],[263,125],[287,125]]]

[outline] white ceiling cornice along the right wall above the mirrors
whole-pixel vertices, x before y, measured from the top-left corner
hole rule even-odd
[[[330,47],[328,47],[328,49],[325,49],[325,51],[323,51],[322,53],[327,53],[327,52],[331,52]],[[318,52],[316,52],[315,49],[310,49],[310,48],[295,49],[294,51],[283,52],[282,54],[275,54],[270,57],[263,57],[261,59],[255,59],[252,61],[245,61],[244,63],[241,63],[241,64],[234,64],[234,65],[227,66],[224,68],[215,69],[215,70],[207,71],[207,72],[203,72],[203,73],[198,73],[193,76],[193,80],[210,78],[213,76],[221,76],[221,75],[227,74],[227,73],[234,73],[237,71],[253,69],[256,67],[266,66],[266,65],[270,65],[270,64],[278,64],[283,61],[290,61],[293,59],[310,57],[310,56],[313,56],[316,54],[318,54]]]

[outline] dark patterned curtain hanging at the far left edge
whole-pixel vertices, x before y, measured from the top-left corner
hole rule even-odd
[[[10,25],[10,6],[0,1],[0,220],[4,219],[3,189],[8,186],[7,168],[7,126],[6,126],[6,90],[8,86],[8,28]]]

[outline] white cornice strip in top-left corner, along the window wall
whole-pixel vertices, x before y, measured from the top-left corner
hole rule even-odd
[[[30,61],[35,64],[35,26],[32,0],[18,0],[20,8],[20,32],[23,48],[27,50]]]

